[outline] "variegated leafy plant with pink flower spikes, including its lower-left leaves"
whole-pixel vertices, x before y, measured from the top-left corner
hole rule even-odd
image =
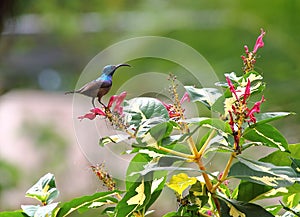
[[[260,113],[265,103],[262,92],[266,85],[262,75],[254,71],[254,65],[258,49],[264,46],[264,35],[262,30],[252,51],[245,46],[243,75],[227,73],[226,82],[217,83],[224,88],[223,92],[218,88],[187,86],[187,93],[180,99],[176,77],[171,74],[171,104],[148,97],[125,102],[122,98],[114,106],[91,110],[94,114],[88,119],[105,116],[116,130],[126,134],[100,138],[101,146],[124,140],[132,145],[131,153],[135,156],[128,166],[125,191],[116,190],[113,179],[103,167],[93,167],[108,187],[107,192],[53,203],[58,191],[54,176],[47,174],[26,193],[42,206],[22,206],[23,212],[14,212],[11,216],[67,216],[75,210],[82,212],[105,205],[104,213],[108,216],[142,217],[150,212],[149,208],[165,186],[174,190],[178,201],[178,209],[165,217],[299,216],[299,145],[288,144],[270,125],[293,113]],[[254,102],[255,95],[260,100]],[[187,118],[182,108],[186,101],[204,104],[219,118]],[[207,133],[198,141],[195,137],[203,128]],[[255,152],[260,146],[276,151],[260,160],[243,154],[250,147]],[[217,152],[226,153],[227,163],[221,171],[208,171],[203,158]],[[176,174],[168,179],[170,171]],[[234,187],[229,185],[233,179],[240,180]],[[258,200],[279,196],[282,201],[274,202],[271,207],[259,205]],[[0,217],[6,215],[4,212]]]

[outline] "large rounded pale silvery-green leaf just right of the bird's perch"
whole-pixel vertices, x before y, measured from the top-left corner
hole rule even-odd
[[[139,128],[149,120],[169,120],[169,114],[164,105],[157,99],[150,97],[137,97],[125,102],[125,120],[128,125]],[[149,125],[149,124],[148,124]]]

